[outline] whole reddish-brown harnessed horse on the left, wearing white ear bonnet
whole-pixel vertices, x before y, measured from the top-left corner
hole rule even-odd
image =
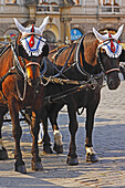
[[[15,46],[8,44],[0,54],[0,159],[8,157],[2,144],[1,127],[3,115],[9,108],[12,121],[12,135],[15,142],[14,169],[19,173],[27,173],[20,148],[22,129],[19,112],[27,107],[32,112],[32,169],[41,170],[42,164],[39,156],[38,133],[44,87],[41,82],[40,67],[43,56],[49,53],[46,41],[42,38],[42,32],[49,22],[49,17],[44,19],[40,28],[34,25],[24,28],[17,19],[14,19],[14,22],[20,31]]]

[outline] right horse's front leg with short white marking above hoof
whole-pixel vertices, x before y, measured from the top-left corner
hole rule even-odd
[[[95,100],[94,100],[95,98]],[[85,150],[86,150],[86,161],[95,163],[98,160],[96,153],[93,149],[92,144],[92,133],[93,133],[93,125],[94,125],[94,115],[96,112],[96,108],[100,103],[100,94],[94,95],[92,98],[88,100],[88,105],[86,107],[86,123],[85,123],[85,129],[86,129],[86,140],[85,140]]]

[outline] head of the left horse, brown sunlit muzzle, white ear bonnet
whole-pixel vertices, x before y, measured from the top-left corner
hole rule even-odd
[[[29,85],[35,86],[40,82],[42,58],[49,53],[46,40],[42,36],[43,30],[49,22],[49,17],[43,20],[39,28],[33,24],[24,28],[15,18],[14,22],[20,31],[15,46],[18,59],[22,67],[25,69]]]

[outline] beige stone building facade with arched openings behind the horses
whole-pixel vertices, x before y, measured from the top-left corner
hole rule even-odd
[[[23,25],[40,25],[50,15],[43,35],[48,41],[69,43],[97,30],[117,30],[125,24],[125,0],[0,0],[0,35],[18,33],[13,18]],[[121,36],[125,42],[125,28]]]

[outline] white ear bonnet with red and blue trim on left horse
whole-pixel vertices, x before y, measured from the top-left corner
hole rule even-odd
[[[49,22],[49,17],[46,17],[43,20],[43,23],[39,28],[34,25],[24,28],[22,24],[19,23],[19,21],[15,18],[14,18],[14,22],[15,22],[18,30],[22,33],[20,41],[25,52],[28,53],[28,55],[39,56],[42,53],[42,49],[46,42],[46,40],[43,39],[41,35]],[[33,33],[33,34],[30,34],[30,33]]]

